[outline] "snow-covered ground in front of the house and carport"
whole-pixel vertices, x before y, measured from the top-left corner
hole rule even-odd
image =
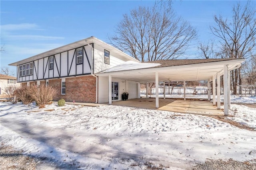
[[[243,97],[240,103],[243,101],[256,103],[256,97]],[[58,165],[66,169],[164,166],[173,170],[190,168],[206,159],[256,158],[256,131],[211,117],[114,105],[72,107],[55,103],[46,107],[54,111],[26,112],[31,109],[22,103],[2,102],[0,140],[50,162],[41,169]],[[226,119],[256,129],[256,109],[232,107],[238,109],[237,117]],[[33,105],[32,109],[38,108]]]

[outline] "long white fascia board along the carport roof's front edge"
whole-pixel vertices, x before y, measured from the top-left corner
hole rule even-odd
[[[108,76],[108,75],[118,75],[118,74],[132,73],[132,72],[138,72],[138,71],[148,72],[148,71],[160,71],[160,70],[168,70],[168,69],[202,67],[202,66],[211,66],[211,65],[233,65],[233,64],[240,64],[244,62],[244,60],[245,59],[236,59],[236,60],[226,60],[226,61],[215,61],[215,62],[209,62],[209,63],[196,63],[196,64],[188,64],[188,65],[168,66],[168,67],[154,67],[154,68],[145,68],[145,69],[126,70],[126,71],[113,71],[113,72],[106,72],[106,73],[98,73],[96,75]]]

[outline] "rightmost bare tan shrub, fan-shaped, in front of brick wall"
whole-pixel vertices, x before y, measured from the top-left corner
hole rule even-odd
[[[54,87],[44,84],[39,87],[37,85],[30,85],[28,87],[28,93],[36,101],[39,108],[44,108],[57,95],[57,90]]]

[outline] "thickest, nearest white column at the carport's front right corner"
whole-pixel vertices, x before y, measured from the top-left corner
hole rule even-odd
[[[224,86],[224,115],[228,116],[228,66],[224,65],[224,74],[223,74],[223,86]]]

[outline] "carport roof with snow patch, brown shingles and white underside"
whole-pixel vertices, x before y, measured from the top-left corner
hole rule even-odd
[[[223,74],[224,65],[229,70],[240,67],[245,59],[178,59],[158,60],[146,63],[123,63],[107,69],[96,75],[108,76],[134,82],[154,82],[155,73],[158,72],[159,81],[197,81],[209,80],[217,72]],[[146,66],[148,64],[148,67]],[[155,64],[155,65],[152,65]],[[140,67],[141,65],[141,67]]]

